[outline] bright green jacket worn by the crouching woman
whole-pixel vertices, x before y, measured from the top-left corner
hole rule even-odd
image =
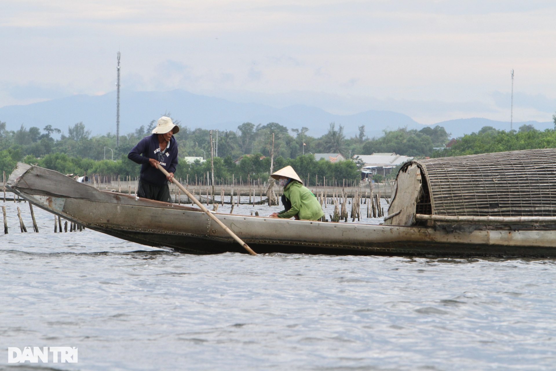
[[[284,196],[291,202],[290,210],[282,210],[278,213],[278,217],[289,219],[292,216],[299,216],[304,220],[319,220],[324,216],[319,200],[315,195],[300,182],[296,180],[290,181],[284,187]]]

